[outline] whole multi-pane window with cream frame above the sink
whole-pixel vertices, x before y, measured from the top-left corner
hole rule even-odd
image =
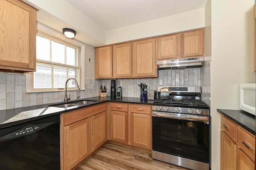
[[[38,30],[31,91],[64,89],[68,78],[75,78],[81,85],[81,47]],[[76,90],[76,83],[68,81],[67,87]]]

